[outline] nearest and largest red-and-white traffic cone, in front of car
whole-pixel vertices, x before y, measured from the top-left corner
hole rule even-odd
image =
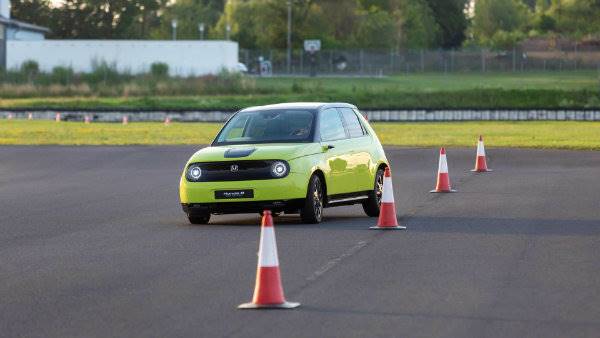
[[[298,306],[300,303],[287,302],[283,296],[273,217],[270,210],[265,210],[260,233],[254,297],[251,303],[242,304],[238,309],[292,309]]]

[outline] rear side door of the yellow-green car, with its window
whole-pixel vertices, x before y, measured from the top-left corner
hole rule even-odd
[[[373,189],[374,177],[371,168],[373,166],[370,150],[372,148],[371,138],[360,123],[356,112],[351,108],[338,108],[342,114],[344,125],[351,144],[349,155],[349,168],[352,168],[352,181],[355,184],[354,191],[367,191]]]

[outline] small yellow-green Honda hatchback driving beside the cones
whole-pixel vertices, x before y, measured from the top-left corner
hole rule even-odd
[[[362,204],[379,215],[383,148],[347,103],[285,103],[234,114],[213,143],[188,160],[179,185],[192,224],[211,214],[300,213],[321,222],[324,207]]]

